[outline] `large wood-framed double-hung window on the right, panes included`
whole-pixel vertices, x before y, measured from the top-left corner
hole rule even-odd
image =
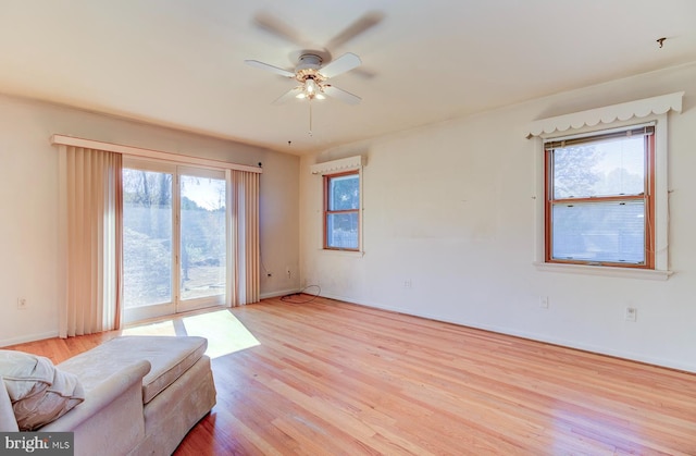
[[[655,268],[655,126],[549,139],[545,261]]]

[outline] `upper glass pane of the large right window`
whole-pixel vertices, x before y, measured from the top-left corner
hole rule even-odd
[[[554,150],[554,198],[639,195],[645,192],[645,137]]]

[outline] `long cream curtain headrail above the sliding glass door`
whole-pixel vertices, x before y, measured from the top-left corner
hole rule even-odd
[[[52,145],[85,147],[88,149],[105,150],[108,152],[123,153],[133,157],[144,157],[159,160],[175,161],[185,164],[199,164],[202,167],[222,168],[226,170],[247,171],[250,173],[262,173],[260,167],[251,167],[248,164],[229,163],[227,161],[185,156],[181,153],[163,152],[160,150],[142,149],[140,147],[122,146],[119,144],[103,143],[94,139],[76,138],[74,136],[52,135]]]

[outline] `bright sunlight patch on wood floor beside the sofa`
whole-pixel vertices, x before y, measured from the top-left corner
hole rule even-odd
[[[198,335],[208,340],[211,358],[260,345],[259,341],[227,310],[128,328],[123,335]]]

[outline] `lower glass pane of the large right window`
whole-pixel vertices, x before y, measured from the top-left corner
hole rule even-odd
[[[555,205],[552,259],[645,262],[645,204]]]

